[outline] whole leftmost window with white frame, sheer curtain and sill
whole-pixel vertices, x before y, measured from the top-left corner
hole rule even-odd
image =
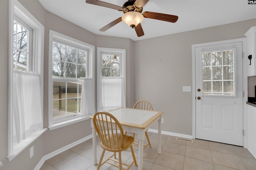
[[[17,0],[9,6],[8,159],[12,160],[43,129],[44,26]]]

